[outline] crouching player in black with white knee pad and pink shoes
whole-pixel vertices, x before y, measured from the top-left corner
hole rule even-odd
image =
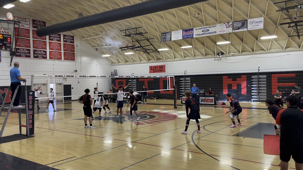
[[[242,112],[242,107],[240,106],[240,104],[239,104],[239,102],[237,100],[238,96],[235,93],[231,94],[231,99],[233,100],[232,101],[232,109],[229,110],[226,113],[231,112],[231,114],[229,115],[229,117],[231,118],[231,121],[232,121],[233,125],[231,125],[229,127],[235,128],[235,127],[237,127],[236,125],[241,126],[239,114]],[[238,120],[237,124],[235,124],[235,116],[236,116],[236,118]]]

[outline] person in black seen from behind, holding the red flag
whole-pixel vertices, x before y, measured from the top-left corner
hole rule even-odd
[[[296,170],[303,169],[303,111],[298,109],[298,97],[286,97],[286,109],[279,111],[276,126],[280,129],[280,166],[288,169],[288,162],[296,162]]]

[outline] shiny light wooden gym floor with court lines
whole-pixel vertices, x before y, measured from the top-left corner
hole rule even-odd
[[[240,102],[242,126],[237,128],[229,128],[228,107],[201,106],[201,134],[195,132],[197,126],[191,120],[184,135],[184,106],[164,105],[173,100],[148,102],[138,105],[142,119],[134,122],[128,121],[126,105],[125,118],[116,119],[116,105],[110,103],[112,115],[104,116],[102,110],[99,120],[95,113],[96,129],[84,129],[82,104],[76,101],[57,103],[56,113],[51,105],[45,113],[46,104],[41,104],[41,110],[35,110],[35,137],[0,144],[0,158],[6,160],[1,161],[0,169],[280,169],[279,156],[263,153],[258,128],[250,130],[271,123],[265,130],[275,134],[275,121],[264,103]],[[136,119],[135,114],[133,117]],[[3,136],[18,134],[18,129],[18,114],[11,113]],[[242,131],[246,137],[241,136]],[[253,133],[259,137],[251,137]],[[28,167],[34,164],[39,168]],[[291,159],[290,167],[294,164]]]

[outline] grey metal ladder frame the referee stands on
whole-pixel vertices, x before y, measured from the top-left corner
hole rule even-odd
[[[25,87],[25,90],[24,90],[24,97],[25,97],[25,106],[23,107],[12,107],[13,106],[13,103],[14,103],[14,100],[16,98],[16,94],[18,92],[18,89],[21,88],[21,87]],[[4,97],[4,100],[3,100],[3,103],[2,103],[2,106],[1,106],[1,109],[0,109],[0,117],[5,117],[4,119],[4,122],[3,123],[0,123],[2,125],[2,128],[1,128],[1,131],[0,131],[0,141],[1,141],[1,137],[2,137],[2,134],[3,134],[3,131],[4,131],[4,128],[5,128],[5,125],[6,125],[6,122],[7,122],[7,119],[8,119],[8,116],[9,116],[9,113],[11,112],[11,110],[18,110],[18,113],[19,113],[19,132],[20,132],[20,135],[22,134],[21,132],[21,127],[26,127],[26,136],[29,136],[29,128],[28,128],[28,100],[27,100],[27,87],[26,85],[19,85],[14,93],[14,96],[12,98],[12,101],[11,101],[11,104],[8,106],[8,107],[5,107],[5,101],[8,97],[8,93],[10,91],[10,86],[8,87],[8,90],[7,92],[5,93],[5,97]],[[26,125],[22,125],[21,124],[21,109],[26,109]],[[7,113],[6,113],[6,116],[4,115],[1,115],[2,112],[4,112],[5,110],[8,110]]]

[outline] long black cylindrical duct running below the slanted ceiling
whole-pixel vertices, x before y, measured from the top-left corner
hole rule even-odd
[[[43,37],[50,34],[72,31],[79,28],[105,24],[108,22],[120,21],[123,19],[152,14],[155,12],[179,8],[182,6],[192,5],[204,1],[207,0],[149,0],[135,5],[113,9],[99,14],[94,14],[83,18],[77,18],[72,21],[62,22],[59,24],[39,28],[36,31],[36,34],[39,37]]]

